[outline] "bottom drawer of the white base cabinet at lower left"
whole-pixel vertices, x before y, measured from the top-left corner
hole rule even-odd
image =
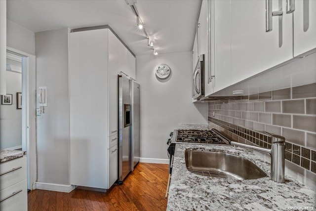
[[[27,179],[0,191],[1,211],[28,210]]]

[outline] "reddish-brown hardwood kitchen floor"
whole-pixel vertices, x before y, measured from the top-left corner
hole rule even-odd
[[[32,190],[29,211],[165,211],[168,165],[140,163],[122,185],[107,193]]]

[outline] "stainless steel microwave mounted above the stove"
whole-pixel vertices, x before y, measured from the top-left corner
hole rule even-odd
[[[193,98],[204,97],[204,54],[199,56],[193,72]]]

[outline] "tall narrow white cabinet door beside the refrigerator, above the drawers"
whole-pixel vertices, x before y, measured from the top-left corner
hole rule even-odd
[[[108,50],[108,136],[118,133],[118,46],[120,41],[109,31]]]

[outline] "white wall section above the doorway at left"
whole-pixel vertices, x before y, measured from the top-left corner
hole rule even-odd
[[[34,32],[11,21],[6,21],[6,45],[35,55]]]

